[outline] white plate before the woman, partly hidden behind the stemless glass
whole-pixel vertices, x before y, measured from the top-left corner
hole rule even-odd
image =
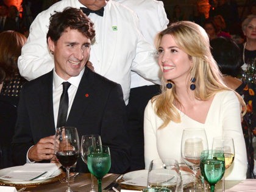
[[[182,176],[183,186],[187,185],[188,183],[193,182],[194,176],[193,176],[193,174],[191,172],[180,171],[180,174]],[[138,170],[138,171],[127,172],[123,176],[123,179],[125,181],[136,179],[136,178],[139,178],[141,181],[143,181],[143,183],[147,183],[147,180],[148,180],[148,170],[147,169],[143,169],[143,170]],[[144,185],[143,187],[146,187],[146,185]]]

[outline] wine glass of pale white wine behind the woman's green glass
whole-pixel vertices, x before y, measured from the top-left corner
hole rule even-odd
[[[213,138],[212,149],[221,150],[225,156],[225,168],[229,168],[235,158],[235,146],[232,137],[215,137]],[[223,176],[222,190],[225,191],[225,179]]]

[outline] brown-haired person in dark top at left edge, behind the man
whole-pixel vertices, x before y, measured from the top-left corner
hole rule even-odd
[[[17,60],[27,38],[13,30],[0,33],[0,168],[13,166],[10,143],[16,123],[16,106],[26,80],[20,76]]]

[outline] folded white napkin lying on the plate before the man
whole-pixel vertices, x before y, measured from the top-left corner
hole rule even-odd
[[[51,176],[60,168],[59,163],[26,163],[0,177],[4,180],[40,180]]]

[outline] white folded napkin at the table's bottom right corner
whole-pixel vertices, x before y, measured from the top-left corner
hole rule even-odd
[[[256,191],[256,179],[246,179],[237,185],[233,186],[227,192],[255,192]]]

